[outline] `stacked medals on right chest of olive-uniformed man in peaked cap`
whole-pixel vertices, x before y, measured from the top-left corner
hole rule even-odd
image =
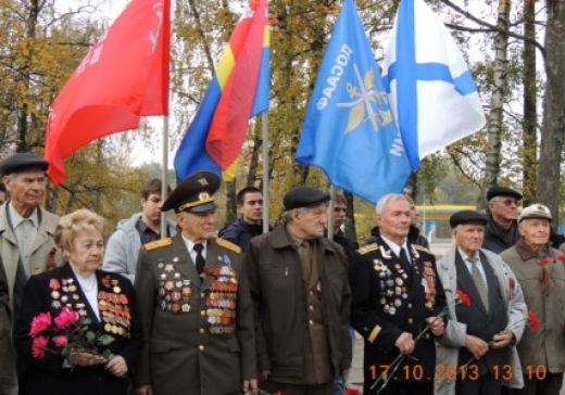
[[[237,277],[230,266],[224,265],[210,285],[206,296],[206,317],[210,333],[234,333],[236,328]]]

